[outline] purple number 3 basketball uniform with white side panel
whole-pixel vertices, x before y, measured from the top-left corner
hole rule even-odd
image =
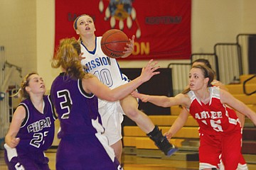
[[[97,97],[82,89],[82,81],[60,74],[50,94],[60,120],[61,138],[56,169],[117,169],[114,152],[98,113]]]

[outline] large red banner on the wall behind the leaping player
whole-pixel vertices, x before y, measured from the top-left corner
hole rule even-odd
[[[84,13],[95,20],[96,36],[112,28],[136,35],[134,52],[122,60],[190,58],[191,0],[55,0],[55,45],[78,38],[73,21]]]

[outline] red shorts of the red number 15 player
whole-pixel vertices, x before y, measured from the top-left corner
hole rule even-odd
[[[241,159],[240,131],[224,135],[200,134],[199,169],[220,169],[220,160],[225,169],[237,169]]]

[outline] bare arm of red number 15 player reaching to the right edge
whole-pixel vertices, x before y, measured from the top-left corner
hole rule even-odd
[[[246,115],[248,118],[250,118],[250,120],[252,120],[252,123],[256,125],[256,113],[248,108],[245,103],[242,103],[242,101],[239,101],[237,98],[232,96],[232,94],[228,93],[228,91],[220,89],[220,101],[228,104],[236,111]]]

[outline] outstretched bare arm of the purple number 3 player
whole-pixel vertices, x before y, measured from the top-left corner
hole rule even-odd
[[[159,69],[159,66],[156,66],[157,62],[150,60],[146,67],[142,69],[142,74],[136,79],[129,81],[129,83],[122,86],[118,86],[115,89],[110,89],[109,87],[102,84],[99,79],[92,77],[90,79],[83,79],[82,86],[87,93],[95,94],[97,97],[102,98],[106,101],[118,101],[119,99],[124,98],[137,89],[138,86],[142,85],[144,82],[149,81],[151,77],[160,72],[155,72],[156,69]]]

